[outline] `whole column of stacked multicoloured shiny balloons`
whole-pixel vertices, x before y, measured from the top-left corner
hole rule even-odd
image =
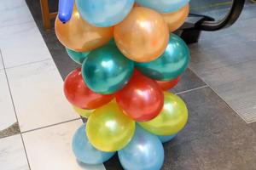
[[[79,161],[102,163],[117,151],[127,170],[162,167],[162,143],[188,120],[168,92],[189,65],[189,48],[172,33],[188,14],[189,0],[60,0],[55,33],[81,65],[64,93],[88,118],[73,136]]]

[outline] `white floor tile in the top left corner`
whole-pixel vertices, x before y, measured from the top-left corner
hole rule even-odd
[[[0,1],[0,27],[32,21],[32,15],[24,0]]]

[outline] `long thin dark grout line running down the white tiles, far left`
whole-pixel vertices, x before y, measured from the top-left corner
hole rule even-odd
[[[16,117],[16,120],[17,120],[18,125],[20,127],[20,123],[19,123],[18,116],[17,116],[16,109],[15,109],[15,102],[14,102],[13,95],[12,95],[12,92],[11,92],[11,89],[10,89],[10,86],[9,86],[9,78],[7,76],[5,65],[4,65],[4,62],[3,62],[3,55],[2,55],[1,48],[0,48],[0,56],[1,56],[1,59],[2,59],[2,63],[3,63],[3,71],[4,71],[4,74],[5,74],[5,77],[6,77],[6,81],[7,81],[7,84],[8,84],[8,88],[9,88],[10,98],[12,100],[12,105],[13,105],[13,108],[14,108],[14,111],[15,111],[15,117]],[[24,148],[25,154],[26,154],[27,165],[28,165],[29,169],[31,170],[30,163],[28,161],[28,156],[27,156],[27,153],[26,153],[26,147],[25,147],[25,144],[24,144],[24,139],[23,139],[21,133],[20,133],[20,137],[21,137],[21,141],[22,141],[22,144],[23,144],[23,148]]]

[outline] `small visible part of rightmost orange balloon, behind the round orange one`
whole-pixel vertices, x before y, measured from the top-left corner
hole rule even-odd
[[[183,23],[189,15],[189,4],[175,12],[162,15],[164,16],[164,20],[166,20],[169,31],[176,31],[180,26],[183,26]]]

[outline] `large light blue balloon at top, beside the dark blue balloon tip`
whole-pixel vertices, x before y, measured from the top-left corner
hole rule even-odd
[[[79,13],[91,25],[108,27],[124,20],[134,0],[76,0]]]

